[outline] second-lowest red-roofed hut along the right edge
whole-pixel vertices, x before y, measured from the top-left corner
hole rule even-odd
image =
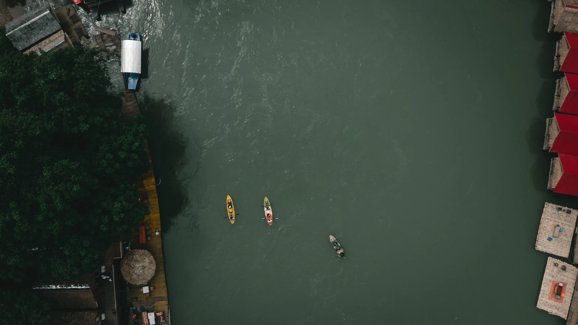
[[[554,113],[546,119],[544,150],[578,156],[578,115]]]

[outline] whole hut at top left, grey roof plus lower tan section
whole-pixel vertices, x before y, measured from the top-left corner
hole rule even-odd
[[[6,24],[6,37],[18,51],[54,51],[72,46],[62,31],[54,10],[43,6],[31,10]]]

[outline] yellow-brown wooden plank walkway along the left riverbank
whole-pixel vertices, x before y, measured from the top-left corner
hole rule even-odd
[[[135,94],[131,90],[124,91],[121,116],[123,116],[124,119],[128,119],[137,115],[140,115],[140,110]],[[146,139],[144,144],[145,150],[148,152]],[[155,275],[149,281],[149,286],[154,287],[154,290],[150,291],[149,297],[146,297],[146,294],[140,292],[142,286],[129,286],[127,300],[137,308],[143,306],[144,310],[149,312],[162,311],[165,315],[165,322],[160,324],[170,325],[171,315],[166,290],[165,260],[162,254],[161,216],[158,208],[157,187],[155,183],[153,164],[149,155],[149,171],[140,176],[136,182],[136,189],[138,190],[140,198],[145,202],[150,211],[150,215],[145,216],[144,220],[140,222],[140,225],[146,229],[146,243],[140,243],[138,230],[132,231],[132,234],[126,241],[130,241],[131,249],[146,249],[153,255],[157,265]],[[155,234],[157,230],[159,235]],[[140,313],[137,313],[137,320],[140,319],[140,317]],[[132,323],[132,320],[129,320],[129,322]]]

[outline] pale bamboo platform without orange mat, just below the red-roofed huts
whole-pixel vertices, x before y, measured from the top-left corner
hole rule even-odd
[[[577,216],[576,210],[546,202],[542,210],[535,248],[541,252],[568,257]],[[559,231],[560,228],[562,231]]]

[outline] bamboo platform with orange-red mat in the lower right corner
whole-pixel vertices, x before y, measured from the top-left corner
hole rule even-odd
[[[536,307],[566,319],[574,293],[576,276],[578,276],[578,268],[548,257]]]

